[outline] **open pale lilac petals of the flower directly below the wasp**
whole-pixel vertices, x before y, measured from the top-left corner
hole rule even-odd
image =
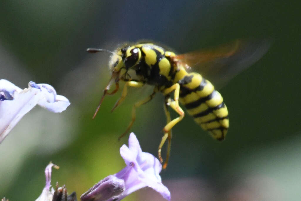
[[[124,181],[125,191],[118,196],[110,197],[108,200],[121,200],[130,193],[143,187],[151,187],[165,199],[170,200],[170,192],[167,187],[162,184],[159,175],[162,169],[161,163],[150,153],[142,152],[134,133],[130,134],[129,147],[123,145],[120,148],[120,155],[127,166],[113,176]],[[96,192],[93,194],[93,198],[95,196],[101,196],[101,193]],[[88,200],[96,199],[87,199],[87,201]]]

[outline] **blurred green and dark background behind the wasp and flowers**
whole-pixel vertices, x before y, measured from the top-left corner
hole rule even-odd
[[[49,83],[71,105],[62,114],[36,107],[0,145],[0,197],[35,200],[52,161],[52,184],[66,184],[78,199],[99,180],[124,167],[119,148],[133,102],[147,96],[130,90],[107,96],[92,115],[110,73],[109,55],[141,39],[178,53],[236,38],[272,38],[258,62],[220,90],[230,112],[222,143],[186,115],[173,128],[163,184],[172,200],[299,200],[301,197],[300,18],[293,2],[278,1],[1,1],[0,78],[26,88]],[[173,117],[177,115],[172,113]],[[166,123],[163,96],[137,111],[135,132],[143,151],[157,155]],[[165,149],[163,155],[165,156]],[[162,200],[143,189],[125,200]]]

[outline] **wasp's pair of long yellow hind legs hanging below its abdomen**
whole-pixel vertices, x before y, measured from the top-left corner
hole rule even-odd
[[[179,106],[180,85],[178,83],[176,83],[176,84],[172,85],[171,87],[167,88],[166,90],[164,90],[163,93],[166,96],[169,93],[171,93],[172,91],[175,91],[174,100],[169,98],[167,100],[167,105],[169,105],[173,110],[175,110],[180,116],[178,118],[173,119],[172,121],[169,121],[166,124],[166,126],[163,128],[164,136],[162,137],[162,140],[161,140],[161,143],[160,143],[159,149],[158,149],[158,155],[159,155],[160,162],[163,162],[163,159],[161,157],[161,148],[162,148],[163,144],[165,143],[165,141],[168,137],[167,156],[166,156],[166,161],[163,164],[163,168],[166,168],[166,166],[167,166],[169,153],[170,153],[171,137],[172,137],[170,130],[172,129],[172,127],[175,124],[177,124],[179,121],[181,121],[184,118],[184,115],[185,115],[184,111]],[[166,113],[167,118],[168,118],[168,115],[169,115],[169,112]],[[167,120],[171,120],[170,117]]]

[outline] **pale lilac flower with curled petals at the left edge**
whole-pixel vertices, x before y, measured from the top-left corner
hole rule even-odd
[[[8,80],[0,80],[0,143],[11,129],[34,106],[62,112],[69,105],[69,100],[56,94],[49,84],[28,83],[28,88],[20,89]]]

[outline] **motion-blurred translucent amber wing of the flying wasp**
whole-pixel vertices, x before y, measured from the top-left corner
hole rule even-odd
[[[269,49],[270,40],[237,39],[213,49],[176,55],[188,64],[188,71],[199,72],[217,88],[259,60]],[[189,70],[191,69],[191,70]]]

